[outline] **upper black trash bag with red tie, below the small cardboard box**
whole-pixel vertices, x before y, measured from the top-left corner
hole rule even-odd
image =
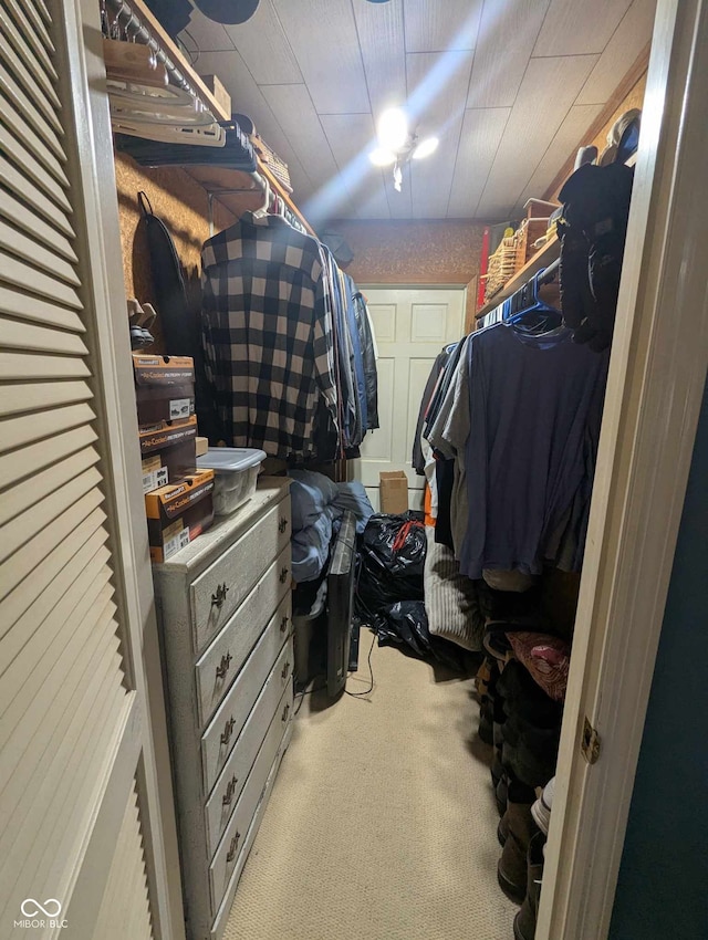
[[[357,609],[364,623],[396,600],[423,600],[425,525],[413,513],[373,515],[360,549]]]

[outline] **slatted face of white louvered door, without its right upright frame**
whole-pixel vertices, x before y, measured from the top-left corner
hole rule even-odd
[[[54,936],[23,920],[51,917],[67,919],[69,940],[143,940],[154,936],[137,791],[146,719],[126,679],[77,247],[85,217],[60,80],[71,12],[0,6],[0,937]],[[87,870],[94,837],[104,858]]]

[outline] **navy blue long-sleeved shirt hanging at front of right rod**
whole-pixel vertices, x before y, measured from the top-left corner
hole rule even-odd
[[[472,334],[466,355],[469,524],[460,568],[471,578],[483,568],[540,574],[560,525],[584,540],[608,353],[573,343],[566,328],[534,335],[498,324]]]

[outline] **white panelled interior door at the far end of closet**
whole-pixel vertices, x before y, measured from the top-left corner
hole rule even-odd
[[[362,292],[378,347],[381,427],[364,438],[362,458],[353,461],[354,479],[364,483],[378,510],[378,474],[404,470],[408,504],[421,509],[425,478],[410,464],[418,409],[436,356],[462,335],[466,290],[362,288]]]

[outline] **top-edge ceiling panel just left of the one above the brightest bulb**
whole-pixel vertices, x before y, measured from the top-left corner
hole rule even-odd
[[[351,0],[274,0],[320,114],[369,112]]]

